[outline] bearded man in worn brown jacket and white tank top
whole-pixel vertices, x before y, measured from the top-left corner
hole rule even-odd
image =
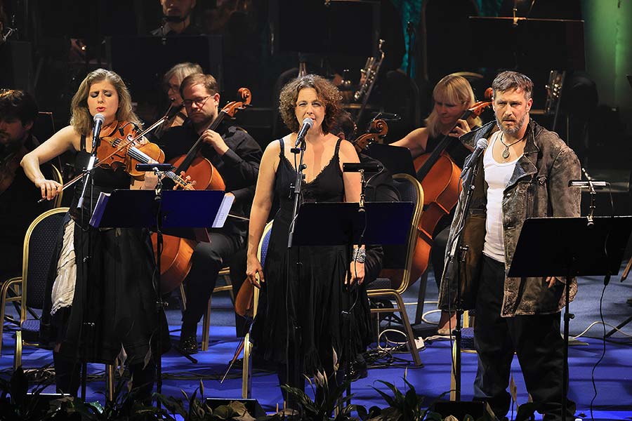
[[[479,359],[475,400],[487,401],[499,419],[506,415],[515,352],[527,390],[539,412],[546,414],[544,419],[574,420],[572,401],[567,401],[566,417],[561,413],[562,364],[567,363],[560,336],[565,280],[508,278],[506,273],[527,218],[579,216],[580,193],[568,187],[569,180],[580,178],[579,161],[556,133],[530,121],[533,83],[527,76],[502,72],[492,88],[496,124],[461,137],[469,147],[481,138],[489,142],[477,163],[475,189],[465,215],[461,245],[468,250],[463,262],[456,259],[446,269],[440,307],[454,309],[460,285],[463,308],[475,309]],[[461,206],[459,200],[448,244],[463,213]],[[573,280],[571,300],[576,292]]]

